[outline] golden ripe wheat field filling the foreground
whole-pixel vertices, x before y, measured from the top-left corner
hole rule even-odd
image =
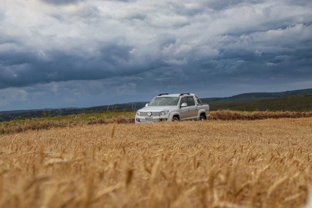
[[[0,135],[0,207],[309,207],[312,118]]]

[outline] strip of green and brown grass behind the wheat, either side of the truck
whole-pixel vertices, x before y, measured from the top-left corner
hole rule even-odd
[[[211,111],[212,120],[257,120],[257,119],[280,119],[280,118],[308,118],[312,112],[290,111],[255,111],[240,112],[231,110]],[[26,119],[22,121],[0,123],[0,134],[18,133],[29,129],[50,129],[53,127],[77,126],[83,124],[108,124],[108,123],[134,123],[135,112],[112,113],[112,114],[79,114],[59,117]]]

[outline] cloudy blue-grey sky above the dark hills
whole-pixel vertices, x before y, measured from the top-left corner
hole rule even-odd
[[[312,88],[308,0],[0,4],[0,111]]]

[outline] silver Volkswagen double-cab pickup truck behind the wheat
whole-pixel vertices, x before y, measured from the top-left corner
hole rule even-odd
[[[135,115],[135,123],[205,119],[210,119],[209,105],[189,93],[159,94]]]

